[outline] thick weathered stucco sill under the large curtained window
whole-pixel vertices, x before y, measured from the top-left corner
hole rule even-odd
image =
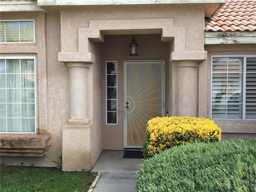
[[[44,134],[1,134],[1,156],[42,157],[50,148],[50,133]]]

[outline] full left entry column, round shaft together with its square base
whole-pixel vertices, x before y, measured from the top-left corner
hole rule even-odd
[[[92,82],[89,75],[91,64],[68,62],[70,72],[70,119],[62,129],[62,170],[89,171],[92,168],[90,155],[90,108]]]

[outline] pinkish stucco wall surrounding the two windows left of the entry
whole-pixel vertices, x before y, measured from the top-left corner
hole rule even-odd
[[[46,130],[51,137],[51,145],[43,157],[1,156],[6,165],[56,166],[53,160],[62,153],[62,126],[69,115],[68,68],[58,62],[60,52],[59,13],[1,13],[4,19],[35,19],[35,44],[5,44],[1,56],[36,56],[37,86],[37,132]],[[1,45],[2,46],[2,45]],[[17,135],[18,137],[18,135]]]

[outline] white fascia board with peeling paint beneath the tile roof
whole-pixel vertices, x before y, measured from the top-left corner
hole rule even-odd
[[[256,31],[204,32],[204,44],[256,44]]]

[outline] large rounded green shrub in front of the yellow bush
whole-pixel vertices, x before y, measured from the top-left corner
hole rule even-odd
[[[144,160],[137,192],[256,192],[256,139],[194,142]]]

